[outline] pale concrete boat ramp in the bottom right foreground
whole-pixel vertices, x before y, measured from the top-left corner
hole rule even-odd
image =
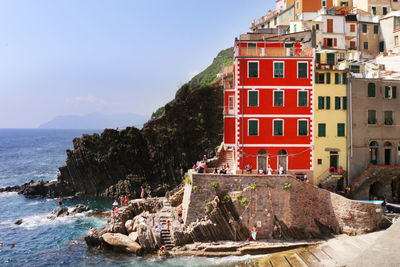
[[[274,253],[260,266],[400,266],[400,220],[386,231],[340,235],[315,247]]]

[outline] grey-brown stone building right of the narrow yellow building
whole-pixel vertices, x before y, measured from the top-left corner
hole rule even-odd
[[[371,165],[400,163],[400,99],[397,88],[400,88],[399,80],[350,79],[350,183]]]

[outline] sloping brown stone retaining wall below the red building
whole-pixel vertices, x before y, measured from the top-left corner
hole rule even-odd
[[[346,199],[291,176],[197,174],[189,172],[185,187],[185,224],[206,216],[206,202],[229,196],[249,230],[261,224],[259,238],[305,239],[332,233],[358,234],[376,230],[383,220],[381,209]],[[218,193],[211,187],[219,184]],[[290,189],[284,189],[285,183]],[[252,186],[253,185],[253,186]],[[239,196],[239,197],[237,197]],[[238,199],[246,198],[240,205]]]

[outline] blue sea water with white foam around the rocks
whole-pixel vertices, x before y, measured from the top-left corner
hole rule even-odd
[[[66,150],[82,134],[101,130],[0,129],[0,188],[31,180],[55,180],[65,164]],[[88,205],[91,210],[111,209],[106,198],[67,198],[64,205]],[[137,257],[86,246],[90,227],[100,227],[104,218],[75,216],[47,219],[58,206],[56,199],[27,198],[0,193],[0,266],[257,266],[255,256],[222,258],[180,257],[160,260],[154,255]],[[22,219],[21,225],[15,221]],[[12,248],[11,244],[15,247]]]

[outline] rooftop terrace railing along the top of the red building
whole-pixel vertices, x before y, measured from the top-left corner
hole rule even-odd
[[[235,53],[237,57],[312,57],[312,50],[293,47],[248,48],[241,47]]]

